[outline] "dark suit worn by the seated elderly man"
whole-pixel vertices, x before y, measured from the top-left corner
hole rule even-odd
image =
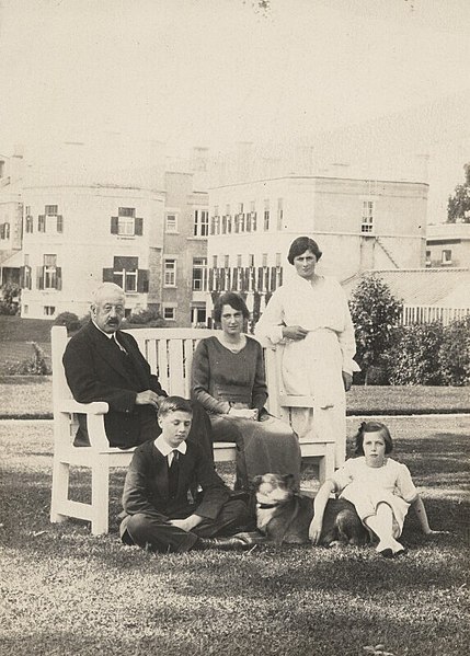
[[[162,390],[158,377],[150,373],[150,366],[134,337],[121,331],[117,331],[116,336],[127,356],[90,321],[69,341],[64,354],[64,367],[76,401],[105,401],[110,405],[104,416],[107,439],[113,447],[128,449],[142,441],[142,423],[147,426],[153,423],[154,437],[160,434],[156,410],[151,405],[135,404],[138,392],[152,390],[159,396],[168,394]],[[126,358],[130,358],[127,365]],[[77,436],[80,439],[85,438],[87,431],[83,416],[79,419]]]

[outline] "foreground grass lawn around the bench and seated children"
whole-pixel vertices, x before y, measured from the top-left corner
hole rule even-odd
[[[410,517],[397,561],[370,546],[153,556],[122,545],[116,520],[101,538],[84,522],[50,525],[51,425],[1,423],[3,653],[467,655],[470,418],[388,424],[432,526],[450,531],[426,539]],[[113,516],[123,476],[113,474]],[[82,497],[83,473],[73,481]]]

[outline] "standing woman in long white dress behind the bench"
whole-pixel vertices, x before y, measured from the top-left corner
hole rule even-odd
[[[321,251],[312,239],[299,237],[287,260],[297,275],[272,296],[256,324],[257,337],[285,344],[283,380],[288,394],[311,395],[313,408],[293,408],[293,428],[335,441],[335,465],[345,459],[346,399],[356,353],[347,300],[334,278],[320,276]]]

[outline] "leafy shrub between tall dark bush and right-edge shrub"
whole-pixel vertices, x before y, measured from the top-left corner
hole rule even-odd
[[[439,348],[444,327],[439,322],[404,325],[387,355],[391,384],[440,384]]]

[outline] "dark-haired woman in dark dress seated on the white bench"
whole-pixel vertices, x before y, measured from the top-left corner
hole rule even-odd
[[[208,412],[214,441],[237,444],[236,490],[267,472],[300,479],[300,447],[290,426],[264,410],[267,388],[262,347],[243,334],[249,318],[243,299],[225,292],[214,309],[217,336],[202,339],[192,371],[192,396]]]

